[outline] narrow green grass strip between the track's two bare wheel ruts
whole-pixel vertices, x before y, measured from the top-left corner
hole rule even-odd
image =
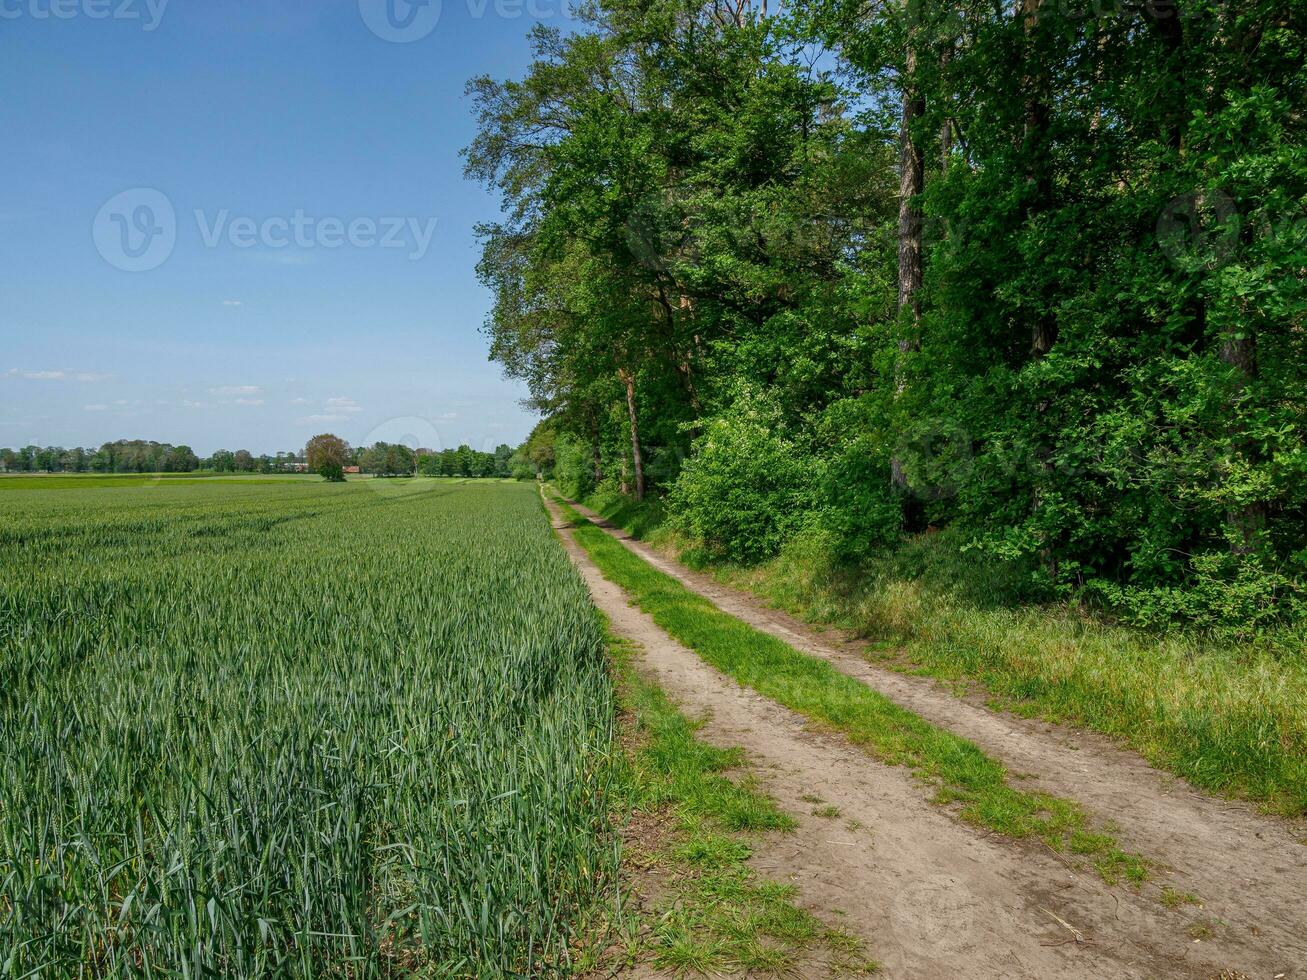
[[[557,499],[557,498],[555,498]],[[848,737],[891,766],[906,766],[935,787],[935,801],[961,818],[1013,839],[1035,838],[1090,862],[1107,882],[1148,878],[1148,864],[1091,826],[1076,802],[1010,785],[1004,767],[978,746],[714,606],[631,554],[565,502],[576,542],[605,578],[707,662],[759,694]]]

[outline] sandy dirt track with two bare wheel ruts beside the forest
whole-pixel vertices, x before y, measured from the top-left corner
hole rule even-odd
[[[806,730],[800,716],[707,666],[631,608],[579,550],[557,511],[554,517],[613,629],[644,648],[643,669],[689,715],[710,719],[704,738],[744,747],[770,774],[769,791],[800,818],[796,834],[755,856],[757,868],[797,883],[801,900],[827,921],[831,909],[840,909],[887,976],[1304,975],[1307,848],[1286,825],[1201,797],[1103,740],[997,715],[929,681],[873,668],[850,644],[818,639],[606,528],[725,612],[974,740],[1014,772],[1033,776],[1034,785],[1111,817],[1128,848],[1175,869],[1159,875],[1165,883],[1199,892],[1205,907],[1168,909],[1155,889],[1138,894],[1072,873],[1047,849],[958,823],[929,805],[928,792],[907,772]],[[838,808],[839,818],[810,815],[805,796]],[[851,821],[863,826],[850,830]],[[1196,942],[1189,930],[1200,924],[1214,934]]]

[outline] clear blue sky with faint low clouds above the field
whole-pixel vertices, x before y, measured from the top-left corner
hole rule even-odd
[[[459,149],[535,20],[565,0],[0,0],[0,446],[520,442]]]

